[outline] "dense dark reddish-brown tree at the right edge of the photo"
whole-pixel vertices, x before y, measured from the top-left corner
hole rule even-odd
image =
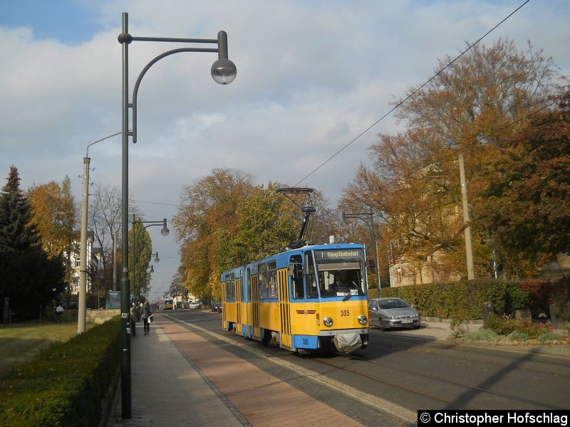
[[[532,270],[569,252],[570,91],[505,142],[486,174],[479,221],[494,243]]]

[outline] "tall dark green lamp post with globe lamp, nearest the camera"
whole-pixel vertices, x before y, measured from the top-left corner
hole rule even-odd
[[[121,199],[121,223],[123,225],[123,275],[121,277],[121,300],[120,300],[120,344],[121,352],[121,411],[123,418],[131,418],[131,388],[130,388],[130,335],[128,333],[130,318],[130,285],[128,275],[128,137],[133,137],[137,142],[137,93],[142,77],[147,70],[158,60],[174,53],[182,52],[212,52],[218,54],[218,59],[212,65],[212,78],[222,85],[232,83],[237,74],[234,63],[227,58],[227,33],[219,31],[217,38],[157,38],[157,37],[133,37],[128,32],[128,14],[123,12],[123,32],[118,36],[118,41],[123,45],[123,174],[122,174],[122,199]],[[160,54],[152,59],[142,69],[133,88],[133,102],[129,102],[128,90],[128,48],[133,41],[157,41],[173,43],[213,43],[217,48],[178,48]],[[133,132],[128,132],[129,107],[133,108]]]

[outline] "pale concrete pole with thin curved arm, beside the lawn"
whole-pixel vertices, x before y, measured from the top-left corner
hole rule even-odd
[[[123,132],[116,132],[88,144],[85,157],[83,157],[83,195],[81,197],[81,236],[79,245],[79,305],[77,317],[77,333],[85,332],[87,312],[87,211],[89,202],[89,147]],[[113,245],[115,241],[113,241]],[[114,262],[113,258],[113,262]]]

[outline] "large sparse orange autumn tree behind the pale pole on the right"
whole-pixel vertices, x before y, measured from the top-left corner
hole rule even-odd
[[[343,196],[343,203],[370,206],[382,219],[384,246],[395,248],[411,274],[429,266],[440,279],[466,275],[457,152],[465,154],[476,217],[484,165],[529,113],[546,105],[558,77],[551,58],[530,44],[517,51],[508,40],[477,45],[445,68],[451,59],[441,60],[442,71],[409,100],[400,100],[396,116],[406,130],[380,135],[371,147],[373,166],[363,165]],[[472,236],[482,257],[475,260],[477,275],[489,275],[485,231],[475,228]]]

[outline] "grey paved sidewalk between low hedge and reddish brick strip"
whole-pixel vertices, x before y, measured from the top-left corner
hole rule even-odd
[[[216,393],[194,364],[184,357],[165,334],[164,317],[150,325],[150,334],[137,324],[131,337],[131,409],[133,418],[122,418],[120,379],[112,426],[247,426]]]

